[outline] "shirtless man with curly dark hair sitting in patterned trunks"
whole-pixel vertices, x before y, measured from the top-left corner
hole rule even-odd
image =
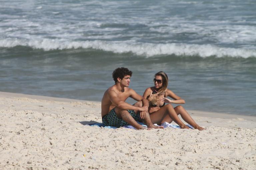
[[[106,90],[101,100],[102,123],[117,128],[131,125],[136,129],[147,129],[136,122],[143,120],[148,128],[163,128],[152,124],[148,113],[148,100],[128,88],[132,71],[121,67],[115,69],[112,76],[115,85]],[[139,102],[130,105],[125,102],[128,97]]]

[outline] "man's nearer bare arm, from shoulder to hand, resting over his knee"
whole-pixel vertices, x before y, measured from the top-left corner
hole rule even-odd
[[[111,90],[109,91],[109,98],[110,98],[110,101],[115,105],[117,106],[118,108],[122,109],[122,110],[138,110],[138,111],[147,111],[147,108],[145,107],[136,107],[136,106],[132,106],[124,101],[121,101],[119,98],[118,98],[118,95],[115,91]]]

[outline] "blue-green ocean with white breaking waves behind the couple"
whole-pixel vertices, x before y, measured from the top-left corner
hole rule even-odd
[[[127,67],[140,95],[165,71],[188,110],[256,116],[254,0],[0,4],[0,91],[101,101]]]

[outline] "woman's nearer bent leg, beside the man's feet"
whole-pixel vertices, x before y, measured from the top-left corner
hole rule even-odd
[[[181,128],[188,128],[178,117],[172,105],[165,105],[160,108],[158,111],[150,113],[150,119],[153,124],[161,125],[161,123],[165,122],[166,119],[169,118],[169,121],[173,120],[176,122]],[[172,119],[171,119],[172,118]],[[168,121],[168,120],[167,120]],[[168,121],[168,122],[169,122]]]

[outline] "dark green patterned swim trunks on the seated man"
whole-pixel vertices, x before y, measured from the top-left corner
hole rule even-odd
[[[129,112],[129,114],[133,117],[133,119],[135,121],[141,121],[140,119],[140,114],[136,114],[134,112],[134,110],[127,110]],[[115,112],[115,107],[105,116],[102,117],[102,123],[105,126],[114,126],[117,128],[120,128],[122,126],[127,126],[129,125],[128,123],[126,123],[124,120],[119,119],[116,115]]]

